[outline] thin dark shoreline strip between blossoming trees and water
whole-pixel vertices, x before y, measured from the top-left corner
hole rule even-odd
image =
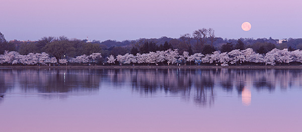
[[[281,66],[0,66],[0,69],[302,69],[299,65]]]

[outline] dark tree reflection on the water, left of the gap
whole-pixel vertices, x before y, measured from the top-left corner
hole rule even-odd
[[[0,82],[3,83],[0,83],[0,93],[6,93],[13,88],[18,88],[19,92],[26,95],[40,95],[45,98],[95,93],[100,85],[100,76],[94,73],[91,69],[2,69]]]

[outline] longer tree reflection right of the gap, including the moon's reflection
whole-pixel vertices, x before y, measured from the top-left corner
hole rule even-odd
[[[286,89],[301,85],[298,70],[110,69],[108,73],[117,84],[131,82],[132,90],[141,96],[154,96],[164,91],[166,95],[180,96],[186,102],[193,99],[198,106],[212,105],[215,89],[233,92],[236,88],[239,97],[244,96],[243,103],[249,105],[251,88],[273,92],[276,86]]]

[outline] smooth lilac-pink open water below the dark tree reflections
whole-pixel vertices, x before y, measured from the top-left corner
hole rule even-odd
[[[170,70],[170,72],[175,71]],[[244,74],[247,78],[249,75]],[[74,79],[77,80],[75,77]],[[20,92],[24,91],[21,88],[22,84],[15,80],[15,85],[8,88],[5,97],[0,98],[1,131],[300,131],[302,129],[300,125],[302,106],[299,105],[302,90],[298,85],[291,85],[285,92],[277,84],[273,92],[270,89],[259,89],[255,88],[256,85],[247,84],[241,94],[236,91],[228,92],[220,85],[213,85],[213,91],[211,89],[199,91],[200,89],[192,87],[190,93],[181,93],[181,95],[175,94],[175,91],[166,92],[159,89],[153,94],[140,94],[140,91],[132,89],[133,82],[114,82],[107,77],[98,79],[97,83],[100,85],[97,90],[91,88],[81,90],[85,87],[89,88],[89,85],[80,85],[82,88],[71,88],[71,92],[64,94],[57,92],[40,94],[41,92],[35,90]],[[221,78],[216,79],[221,80]],[[95,85],[97,83],[91,82]],[[197,95],[208,95],[206,97],[209,98],[211,93],[215,99],[210,107],[200,107],[196,101],[191,101],[199,97]],[[186,97],[182,97],[185,95]]]

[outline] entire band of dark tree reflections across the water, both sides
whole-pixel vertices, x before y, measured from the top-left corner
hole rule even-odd
[[[19,87],[22,93],[66,98],[95,94],[109,83],[112,88],[129,85],[141,97],[179,96],[203,107],[214,103],[217,90],[236,89],[239,97],[249,97],[251,89],[285,91],[301,86],[301,80],[299,70],[282,69],[0,69],[0,94]],[[243,101],[249,104],[249,100]]]

